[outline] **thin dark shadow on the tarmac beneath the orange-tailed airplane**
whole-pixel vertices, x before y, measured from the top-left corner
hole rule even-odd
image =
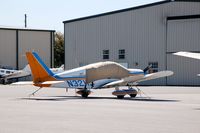
[[[179,102],[179,100],[174,99],[156,99],[148,97],[136,97],[129,98],[125,97],[124,99],[117,99],[116,97],[88,97],[82,98],[80,96],[46,96],[46,97],[24,97],[19,98],[21,100],[38,100],[38,101],[67,101],[67,100],[90,100],[90,99],[110,99],[110,100],[127,100],[127,101],[144,101],[144,102]]]

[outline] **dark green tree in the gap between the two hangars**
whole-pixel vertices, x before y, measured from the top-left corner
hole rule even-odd
[[[54,67],[64,64],[64,35],[61,32],[55,33],[54,46]]]

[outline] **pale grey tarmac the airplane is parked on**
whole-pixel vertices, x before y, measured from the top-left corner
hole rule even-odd
[[[117,99],[74,90],[0,85],[0,133],[200,133],[200,87],[142,86]]]

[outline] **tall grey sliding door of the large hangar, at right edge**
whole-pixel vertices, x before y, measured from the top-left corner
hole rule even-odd
[[[174,71],[167,84],[200,85],[200,60],[171,54],[178,51],[200,53],[200,18],[167,21],[167,69]]]

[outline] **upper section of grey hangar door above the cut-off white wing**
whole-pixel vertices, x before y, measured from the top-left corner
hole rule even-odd
[[[200,18],[168,20],[167,52],[177,51],[200,51]]]

